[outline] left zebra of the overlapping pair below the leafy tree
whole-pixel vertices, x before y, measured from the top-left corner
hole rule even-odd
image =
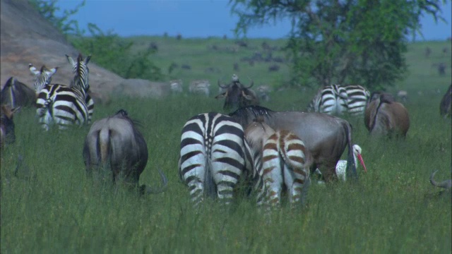
[[[307,107],[309,112],[340,115],[347,112],[347,91],[340,85],[328,85],[317,92]]]

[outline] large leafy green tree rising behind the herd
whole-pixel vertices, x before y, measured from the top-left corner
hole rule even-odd
[[[437,21],[446,0],[230,0],[235,32],[292,20],[286,49],[292,81],[303,85],[358,83],[384,89],[404,78],[408,37],[425,13]]]

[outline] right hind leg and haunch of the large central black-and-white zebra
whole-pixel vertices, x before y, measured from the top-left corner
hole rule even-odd
[[[243,140],[234,140],[237,136],[225,140],[216,136],[213,140],[211,154],[211,170],[213,181],[217,188],[217,195],[220,200],[229,204],[234,195],[234,188],[237,186],[240,177],[244,173],[245,159],[244,146],[240,145]]]

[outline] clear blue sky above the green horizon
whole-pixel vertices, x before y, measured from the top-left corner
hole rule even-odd
[[[81,0],[60,0],[57,6],[72,9]],[[430,16],[422,18],[424,40],[446,40],[451,37],[451,1],[443,6],[442,16],[447,23],[435,23]],[[208,37],[227,35],[233,37],[232,30],[237,16],[230,13],[226,0],[87,0],[71,19],[78,20],[81,28],[94,23],[102,31],[111,30],[121,36],[163,35],[180,33],[182,37]],[[251,28],[247,37],[283,38],[290,31],[287,20]],[[422,40],[417,37],[417,40]]]

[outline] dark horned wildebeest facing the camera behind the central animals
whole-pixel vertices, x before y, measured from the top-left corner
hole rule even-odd
[[[251,81],[251,85],[245,87],[240,83],[239,77],[233,74],[232,83],[227,86],[221,85],[220,81],[218,81],[218,86],[226,89],[226,92],[215,96],[215,99],[225,98],[223,109],[237,109],[248,105],[258,105],[259,99],[256,92],[250,89],[253,85],[254,83]]]

